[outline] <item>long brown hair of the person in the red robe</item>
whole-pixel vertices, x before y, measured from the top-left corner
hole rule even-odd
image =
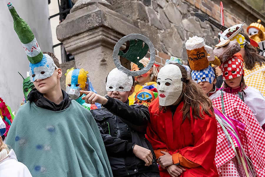
[[[203,89],[188,77],[186,69],[178,63],[170,63],[180,68],[182,75],[182,93],[181,101],[183,101],[183,122],[186,117],[191,120],[191,114],[195,119],[203,119],[203,114],[214,117],[212,101],[206,96]],[[166,112],[170,106],[159,106],[160,111]],[[190,112],[191,110],[191,112]]]

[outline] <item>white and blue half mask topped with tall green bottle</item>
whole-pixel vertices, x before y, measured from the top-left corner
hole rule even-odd
[[[14,21],[14,30],[18,35],[30,62],[30,81],[34,82],[36,79],[45,79],[52,76],[55,68],[57,68],[52,57],[48,54],[42,53],[29,25],[19,17],[12,3],[9,2],[7,6]]]

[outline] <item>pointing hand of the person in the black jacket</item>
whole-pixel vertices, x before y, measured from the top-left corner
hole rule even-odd
[[[101,96],[99,94],[96,94],[92,91],[83,91],[80,90],[81,94],[86,94],[86,96],[82,97],[83,100],[85,100],[86,103],[88,104],[95,104],[95,102],[99,104],[106,104],[108,99],[105,98],[104,96]]]

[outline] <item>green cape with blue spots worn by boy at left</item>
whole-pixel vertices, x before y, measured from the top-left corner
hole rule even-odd
[[[6,144],[34,177],[112,177],[97,124],[74,100],[57,112],[28,101],[19,108]]]

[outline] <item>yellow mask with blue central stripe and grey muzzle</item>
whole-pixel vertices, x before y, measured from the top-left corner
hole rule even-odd
[[[77,99],[80,96],[80,90],[85,90],[87,84],[87,74],[84,68],[81,69],[68,69],[66,76],[66,93],[70,95],[70,98]]]

